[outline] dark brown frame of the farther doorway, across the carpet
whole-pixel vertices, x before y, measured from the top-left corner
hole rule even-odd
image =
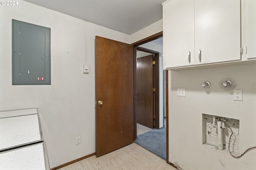
[[[137,50],[153,54],[154,58],[155,58],[155,61],[156,61],[155,72],[154,72],[155,88],[156,88],[155,101],[154,101],[154,112],[155,112],[156,118],[154,120],[155,122],[154,122],[153,127],[154,127],[154,129],[159,129],[159,52],[154,51],[154,50],[150,50],[150,49],[146,49],[146,48],[143,48],[143,47],[136,47],[136,51]],[[136,69],[136,71],[137,71],[137,69]],[[137,76],[137,74],[136,74],[136,76]],[[134,94],[136,94],[136,98],[137,98],[137,79],[136,79],[136,82],[134,82],[134,84],[136,84],[136,91],[134,90]],[[134,103],[136,103],[136,108],[137,108],[137,101],[134,101]],[[137,116],[137,112],[136,112],[136,116]],[[136,128],[137,128],[137,117],[136,117]]]

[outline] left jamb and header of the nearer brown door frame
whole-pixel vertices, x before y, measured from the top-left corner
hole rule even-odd
[[[142,45],[144,43],[148,43],[150,41],[153,41],[155,39],[163,37],[163,31],[156,33],[154,35],[151,35],[150,37],[146,37],[144,39],[141,39],[140,41],[137,41],[135,43],[132,43],[133,45],[133,74],[134,74],[134,141],[137,139],[137,77],[136,77],[136,51],[139,45]],[[156,57],[157,58],[157,57]],[[159,70],[159,69],[158,69]],[[167,87],[166,87],[167,88]],[[159,98],[159,96],[158,96]],[[167,99],[166,99],[167,100]],[[158,100],[159,101],[159,100]],[[167,116],[167,110],[166,110],[166,116]],[[159,115],[159,114],[158,114]],[[159,124],[159,123],[158,123]],[[166,119],[167,124],[167,119]],[[159,126],[159,125],[158,125]],[[159,127],[158,127],[159,128]],[[168,129],[166,128],[166,133],[168,133]],[[166,152],[167,155],[167,152]]]

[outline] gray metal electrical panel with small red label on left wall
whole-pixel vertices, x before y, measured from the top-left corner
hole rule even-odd
[[[12,85],[51,84],[50,28],[12,20]]]

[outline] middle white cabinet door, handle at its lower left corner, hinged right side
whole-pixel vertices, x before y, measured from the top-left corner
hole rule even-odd
[[[240,60],[240,47],[240,0],[195,0],[195,64]]]

